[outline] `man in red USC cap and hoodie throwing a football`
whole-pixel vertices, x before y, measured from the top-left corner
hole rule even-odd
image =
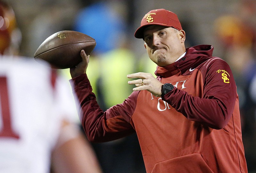
[[[135,32],[157,79],[134,73],[132,94],[103,112],[92,93],[89,56],[70,69],[80,120],[88,138],[105,142],[136,132],[148,173],[247,172],[236,84],[228,64],[212,56],[211,45],[185,49],[176,14],[149,11]],[[118,82],[118,81],[117,81]]]

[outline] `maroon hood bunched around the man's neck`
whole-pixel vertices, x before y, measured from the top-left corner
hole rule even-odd
[[[178,72],[184,73],[189,68],[196,68],[199,64],[212,57],[213,47],[211,45],[197,45],[186,48],[186,55],[179,61],[164,67],[156,67],[155,74],[158,77],[169,77]]]

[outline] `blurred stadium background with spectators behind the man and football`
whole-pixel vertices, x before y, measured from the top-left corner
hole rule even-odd
[[[255,0],[6,0],[18,28],[12,42],[19,54],[33,57],[39,45],[62,30],[93,37],[97,45],[88,76],[102,109],[121,103],[132,92],[126,75],[154,73],[156,65],[134,32],[152,9],[176,13],[186,32],[186,47],[213,45],[213,56],[228,62],[239,95],[248,171],[256,172],[256,1]],[[62,70],[68,76],[68,71]],[[116,82],[118,81],[118,82]],[[120,89],[120,90],[119,90]],[[106,92],[105,92],[106,91]],[[127,91],[127,92],[124,92]],[[92,144],[105,173],[144,173],[136,134]]]

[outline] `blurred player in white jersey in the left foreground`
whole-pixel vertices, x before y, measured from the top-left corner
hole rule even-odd
[[[2,1],[0,23],[0,172],[101,173],[67,81],[47,64],[12,56],[18,28]]]

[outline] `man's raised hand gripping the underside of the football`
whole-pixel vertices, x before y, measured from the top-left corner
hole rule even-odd
[[[76,67],[70,68],[70,75],[72,79],[86,73],[90,55],[87,56],[84,50],[81,50],[80,56],[82,57],[82,61],[79,64],[77,64]]]

